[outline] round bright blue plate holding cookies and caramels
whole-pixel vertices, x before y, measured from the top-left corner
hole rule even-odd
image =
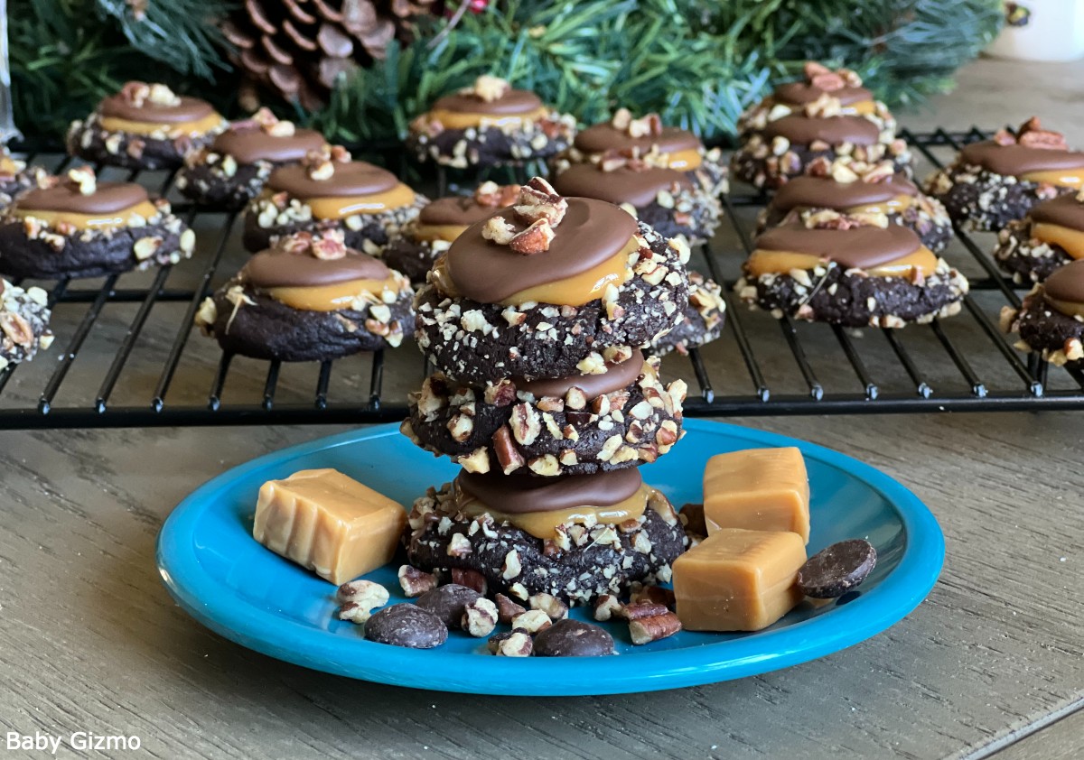
[[[712,683],[785,668],[878,633],[929,593],[944,561],[937,520],[906,488],[850,457],[801,441],[731,424],[686,420],[674,451],[643,468],[644,480],[675,503],[701,500],[708,458],[722,451],[798,446],[812,487],[812,554],[844,538],[877,548],[874,573],[849,597],[803,603],[757,633],[684,631],[633,646],[610,625],[620,657],[508,658],[453,632],[436,650],[365,641],[336,619],[335,587],[264,549],[251,537],[264,481],[332,467],[410,505],[455,468],[413,446],[397,425],[380,425],[294,446],[234,468],[189,496],[158,537],[158,569],[169,592],[211,630],[257,652],[317,670],[401,686],[478,694],[620,694]],[[366,576],[399,594],[395,567]],[[573,610],[584,617],[585,611]],[[586,618],[585,618],[586,619]],[[609,624],[606,624],[609,625]]]

